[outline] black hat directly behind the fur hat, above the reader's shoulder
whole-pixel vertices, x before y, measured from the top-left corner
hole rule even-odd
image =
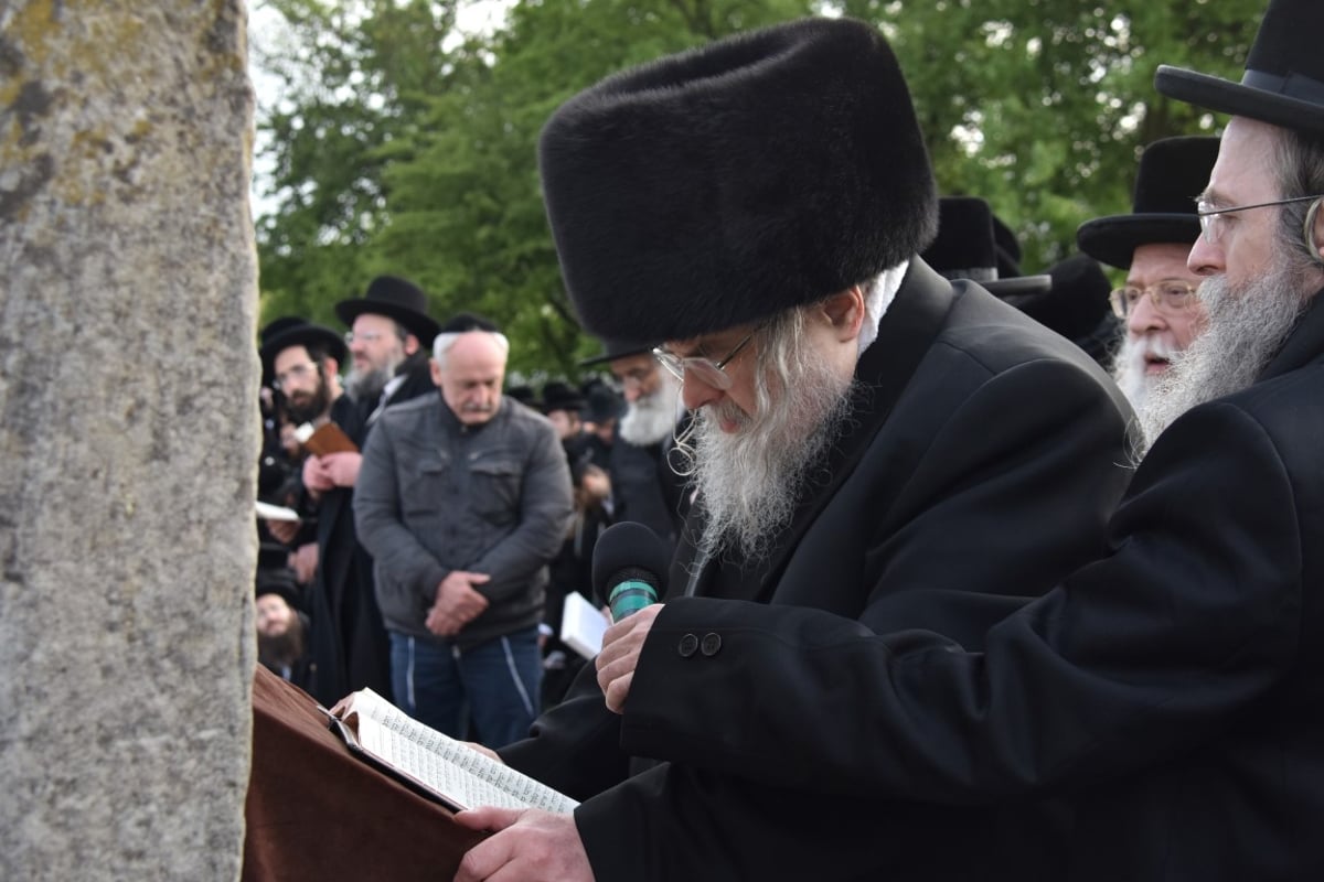
[[[1002,226],[1010,234],[1010,227]],[[920,258],[945,278],[978,282],[1000,298],[1053,287],[1053,279],[1046,275],[1002,278],[1001,267],[1014,266],[1014,262],[1005,246],[998,247],[997,239],[993,209],[986,201],[977,196],[943,196],[937,200],[937,238]]]

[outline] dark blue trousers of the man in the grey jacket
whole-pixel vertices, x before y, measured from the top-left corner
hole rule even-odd
[[[536,625],[463,652],[450,641],[391,632],[396,706],[451,738],[487,747],[526,738],[542,680]]]

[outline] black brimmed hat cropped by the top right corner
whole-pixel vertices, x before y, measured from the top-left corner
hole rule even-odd
[[[1324,138],[1324,3],[1270,0],[1239,83],[1160,65],[1155,89],[1233,116]]]

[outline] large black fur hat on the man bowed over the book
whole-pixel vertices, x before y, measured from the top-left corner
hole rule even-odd
[[[600,337],[683,340],[813,303],[936,229],[906,79],[851,19],[609,77],[552,114],[539,167],[565,287]]]

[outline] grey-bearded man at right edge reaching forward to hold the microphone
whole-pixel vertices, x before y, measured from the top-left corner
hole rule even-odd
[[[1204,278],[1206,325],[1155,393],[1166,407],[1147,417],[1156,440],[1111,518],[1106,551],[977,641],[943,627],[898,631],[895,619],[871,631],[833,610],[737,612],[706,598],[636,614],[608,632],[598,677],[624,711],[621,747],[669,760],[671,776],[650,780],[651,793],[641,780],[622,816],[666,824],[650,811],[653,793],[682,793],[686,768],[707,800],[728,779],[763,787],[809,828],[798,842],[763,842],[768,866],[793,878],[805,850],[834,866],[855,850],[883,853],[894,830],[876,817],[874,841],[861,828],[858,838],[837,834],[842,803],[867,817],[891,799],[927,803],[915,808],[927,815],[1051,793],[1072,808],[1066,863],[1029,878],[1324,877],[1320,33],[1324,4],[1272,0],[1241,83],[1157,71],[1162,94],[1231,120],[1188,258]],[[1038,555],[1043,536],[1039,524],[1004,540]],[[907,577],[911,594],[943,566],[925,563]],[[1042,587],[1005,575],[993,579],[1005,591]],[[793,632],[775,629],[784,616]],[[712,653],[685,657],[696,633]],[[769,772],[777,760],[781,775]],[[773,799],[788,780],[818,799],[788,808]],[[678,825],[733,853],[743,826],[732,812],[666,804]],[[589,800],[576,815],[594,870],[610,853],[604,832],[630,837],[622,852],[654,846],[653,857],[679,862],[673,826],[654,842],[594,809]],[[512,829],[534,821],[557,829],[543,817]],[[500,861],[500,836],[479,846],[483,869]],[[968,845],[964,830],[957,844]]]

